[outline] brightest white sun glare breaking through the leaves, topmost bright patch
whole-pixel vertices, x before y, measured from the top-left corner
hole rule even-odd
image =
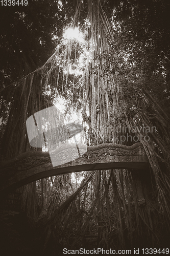
[[[84,35],[79,31],[78,27],[66,29],[63,36],[68,40],[77,39],[80,42],[84,42]]]

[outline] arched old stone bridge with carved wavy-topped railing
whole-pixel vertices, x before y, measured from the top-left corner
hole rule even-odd
[[[48,152],[29,151],[0,164],[0,191],[6,191],[42,178],[86,170],[147,169],[148,157],[141,143],[132,146],[105,143],[88,146],[74,161],[53,167]]]

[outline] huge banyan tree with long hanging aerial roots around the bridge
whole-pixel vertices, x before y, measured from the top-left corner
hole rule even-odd
[[[80,184],[72,184],[71,175],[65,174],[15,190],[33,229],[40,230],[37,248],[47,254],[49,250],[59,253],[62,248],[167,247],[168,114],[147,91],[144,81],[129,74],[125,53],[116,43],[114,18],[106,15],[101,1],[87,0],[87,8],[82,2],[77,2],[70,27],[82,24],[84,41],[63,39],[42,67],[34,70],[23,64],[21,71],[25,72],[20,72],[16,81],[8,87],[1,84],[2,170],[8,160],[22,153],[42,151],[30,146],[26,121],[62,96],[68,100],[68,110],[81,110],[88,146],[139,143],[149,168],[77,173],[77,178],[83,177]],[[87,16],[79,23],[82,9],[87,9]],[[81,54],[84,61],[80,68]],[[16,199],[14,191],[7,192],[3,205],[9,195]]]

